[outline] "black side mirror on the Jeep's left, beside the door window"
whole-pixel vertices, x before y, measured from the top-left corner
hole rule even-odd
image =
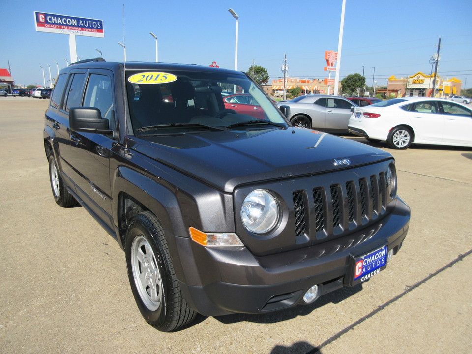
[[[72,107],[69,111],[70,130],[113,134],[114,131],[109,129],[108,119],[102,118],[100,110],[96,107]]]

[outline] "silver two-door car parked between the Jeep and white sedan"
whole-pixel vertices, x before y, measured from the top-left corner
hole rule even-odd
[[[294,126],[346,133],[352,109],[358,107],[346,98],[331,95],[306,95],[278,103]]]

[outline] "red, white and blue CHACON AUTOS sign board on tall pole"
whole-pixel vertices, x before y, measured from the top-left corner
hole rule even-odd
[[[103,21],[84,17],[34,12],[37,32],[75,34],[89,37],[105,37]]]

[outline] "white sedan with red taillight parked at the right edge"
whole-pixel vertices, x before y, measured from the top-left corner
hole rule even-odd
[[[349,132],[390,148],[412,143],[472,147],[472,110],[441,98],[394,98],[355,107]]]

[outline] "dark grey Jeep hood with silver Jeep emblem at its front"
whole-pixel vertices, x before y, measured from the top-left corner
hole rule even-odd
[[[308,176],[392,158],[354,140],[295,127],[136,136],[128,138],[128,147],[228,193],[241,184]]]

